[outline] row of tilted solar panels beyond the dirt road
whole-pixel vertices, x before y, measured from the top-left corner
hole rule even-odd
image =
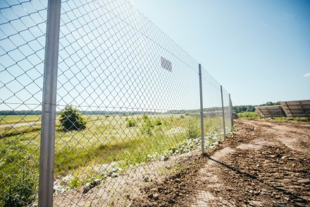
[[[310,117],[310,100],[283,101],[280,105],[255,107],[261,118]]]

